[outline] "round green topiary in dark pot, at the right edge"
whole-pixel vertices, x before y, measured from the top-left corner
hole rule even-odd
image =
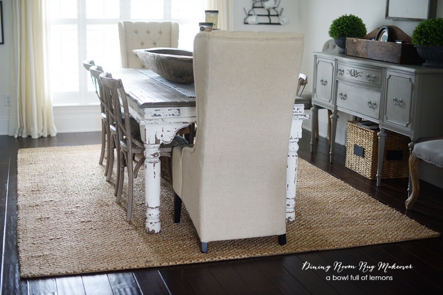
[[[443,18],[420,22],[411,37],[418,55],[426,61],[423,66],[443,67]]]

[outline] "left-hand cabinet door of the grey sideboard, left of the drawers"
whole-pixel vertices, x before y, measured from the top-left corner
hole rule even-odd
[[[332,85],[334,82],[335,60],[316,57],[315,97],[316,104],[332,107]]]

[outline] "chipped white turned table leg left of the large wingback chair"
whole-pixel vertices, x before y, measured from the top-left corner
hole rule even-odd
[[[159,144],[145,144],[146,232],[160,232],[160,151]]]

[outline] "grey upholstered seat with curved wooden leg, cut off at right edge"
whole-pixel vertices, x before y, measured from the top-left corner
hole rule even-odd
[[[411,177],[412,192],[406,200],[406,209],[411,209],[420,193],[420,179],[418,177],[418,165],[420,161],[434,164],[443,168],[443,139],[434,139],[419,142],[414,145],[409,156],[409,173]]]

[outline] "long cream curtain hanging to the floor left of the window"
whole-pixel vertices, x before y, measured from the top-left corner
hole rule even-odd
[[[17,129],[14,136],[56,136],[48,79],[46,0],[14,0]],[[13,122],[15,125],[15,122]]]

